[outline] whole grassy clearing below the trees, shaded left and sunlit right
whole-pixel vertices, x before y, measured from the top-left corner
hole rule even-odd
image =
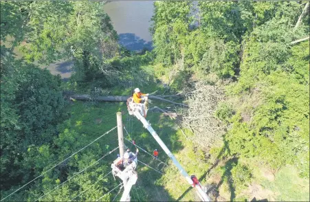
[[[109,95],[130,96],[134,88],[135,86],[126,88],[115,86],[111,89],[105,89],[105,91],[109,92]],[[152,93],[157,90],[155,94],[162,94],[166,90],[161,82],[150,82],[140,89],[144,93]],[[152,106],[164,108],[170,105],[153,100],[153,103],[150,104],[150,107]],[[139,163],[137,166],[138,180],[131,192],[134,201],[199,201],[195,190],[190,188],[185,179],[179,175],[177,168],[171,164],[164,151],[159,148],[157,142],[143,128],[142,123],[127,113],[126,103],[76,101],[70,106],[69,111],[71,111],[69,130],[76,131],[76,138],[81,139],[81,142],[89,142],[90,139],[95,139],[113,128],[116,125],[115,113],[123,111],[123,124],[129,131],[129,136],[126,138],[134,139],[137,145],[142,146],[149,153],[153,153],[155,148],[159,150],[159,159],[168,164],[166,168],[163,168],[162,164],[155,161],[153,157],[140,151],[138,159],[152,168],[161,170],[164,175],[160,175]],[[210,192],[212,194],[210,195],[214,196],[213,199],[218,201],[251,201],[256,197],[256,199],[267,199],[268,201],[309,201],[309,181],[300,179],[296,170],[294,171],[291,167],[281,168],[275,177],[272,177],[273,174],[263,171],[267,168],[255,166],[249,159],[222,159],[220,157],[223,155],[221,147],[212,148],[210,155],[199,150],[189,140],[195,138],[192,133],[184,129],[184,135],[176,122],[170,117],[161,113],[149,112],[147,120],[151,122],[159,137],[175,154],[188,174],[196,175],[203,185],[211,185]],[[125,132],[124,134],[126,135]],[[135,150],[134,146],[126,140],[124,143],[131,150]],[[106,150],[107,147],[115,148],[118,146],[116,131],[100,139],[99,144],[102,150]],[[98,153],[103,152],[98,151]],[[105,164],[110,164],[115,157],[116,153],[113,153],[111,157],[106,159]],[[219,162],[217,162],[218,159],[220,159]],[[217,164],[215,164],[216,162]],[[247,172],[243,173],[242,169],[241,172],[236,170],[234,168],[236,165],[239,165],[239,168],[247,165],[250,169],[251,180],[241,181],[239,177],[236,177],[236,175],[247,174]]]

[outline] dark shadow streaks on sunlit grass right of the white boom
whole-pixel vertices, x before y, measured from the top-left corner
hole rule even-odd
[[[210,171],[217,167],[217,165],[219,164],[219,161],[221,161],[221,157],[223,157],[224,153],[227,152],[228,154],[230,153],[230,148],[228,147],[228,142],[225,141],[225,139],[223,140],[224,142],[224,145],[223,147],[221,148],[221,150],[219,151],[219,155],[217,155],[217,160],[214,162],[214,164],[212,164],[212,166],[206,171],[203,173],[203,175],[201,175],[201,177],[199,177],[199,181],[202,181],[203,179],[205,179],[207,177],[207,175],[209,175]],[[198,176],[197,176],[198,177]],[[222,177],[223,178],[223,177]],[[223,182],[222,182],[223,183]],[[183,194],[181,194],[181,196],[177,199],[177,201],[183,199],[183,197],[192,189],[192,187],[189,187]],[[214,185],[214,184],[211,184],[209,187],[208,187],[208,190],[207,190],[207,194],[210,194],[210,192],[213,192],[214,190],[217,190],[217,186]],[[218,192],[216,192],[215,194],[215,197],[219,197],[219,194]]]

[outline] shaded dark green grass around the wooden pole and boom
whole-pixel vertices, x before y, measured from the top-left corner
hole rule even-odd
[[[157,105],[160,105],[157,103]],[[153,150],[157,148],[160,152],[159,157],[162,161],[168,160],[164,151],[159,148],[157,142],[154,141],[151,134],[143,128],[142,123],[135,117],[127,113],[126,104],[124,102],[80,102],[75,101],[68,109],[71,112],[71,117],[65,124],[68,134],[73,135],[73,139],[78,139],[76,148],[82,147],[82,144],[91,142],[96,137],[99,137],[104,132],[116,126],[116,112],[123,111],[125,114],[122,116],[123,124],[126,126],[127,131],[130,133],[130,137],[135,139],[135,142],[142,146],[142,148],[148,150],[149,153],[153,153]],[[157,131],[159,137],[167,144],[168,148],[173,151],[177,151],[180,148],[177,137],[175,136],[175,130],[173,129],[173,121],[169,117],[164,117],[160,113],[148,113],[147,120],[150,120],[153,128]],[[74,133],[73,133],[74,132]],[[129,139],[129,136],[126,135]],[[71,139],[72,139],[71,138]],[[132,144],[124,142],[126,146],[135,150]],[[107,146],[109,149],[113,149],[118,146],[118,136],[116,130],[111,134],[102,137],[98,140],[98,144],[102,150],[105,150]],[[98,150],[98,153],[103,153]],[[115,159],[116,153],[113,153],[111,157],[108,157],[106,162],[110,164]],[[146,155],[142,151],[139,154],[139,159],[145,164],[149,164],[153,168],[161,169],[162,165],[159,165],[152,157]],[[137,199],[138,197],[146,197],[140,199],[141,201],[171,201],[173,198],[165,190],[164,186],[159,183],[162,175],[147,168],[142,164],[138,164],[138,181],[135,189],[131,192],[132,197]],[[156,186],[155,186],[156,184]],[[159,194],[158,194],[159,193]]]

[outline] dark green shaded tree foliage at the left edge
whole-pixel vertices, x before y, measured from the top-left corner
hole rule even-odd
[[[20,61],[13,65],[1,77],[1,189],[31,177],[25,151],[51,142],[65,117],[60,78]]]

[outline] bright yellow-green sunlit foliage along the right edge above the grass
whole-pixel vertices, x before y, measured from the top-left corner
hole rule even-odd
[[[276,5],[281,14],[277,11],[245,41],[241,76],[228,91],[248,102],[250,112],[235,104],[236,115],[226,118],[232,123],[227,137],[233,154],[259,157],[273,168],[294,164],[300,175],[309,176],[305,161],[309,149],[309,46],[289,45],[309,28],[301,26],[294,32],[290,23],[296,16],[287,11],[286,3]],[[296,3],[290,6],[291,11],[300,9]],[[258,95],[258,103],[251,103],[254,95]],[[250,122],[243,122],[245,113],[250,114]]]

